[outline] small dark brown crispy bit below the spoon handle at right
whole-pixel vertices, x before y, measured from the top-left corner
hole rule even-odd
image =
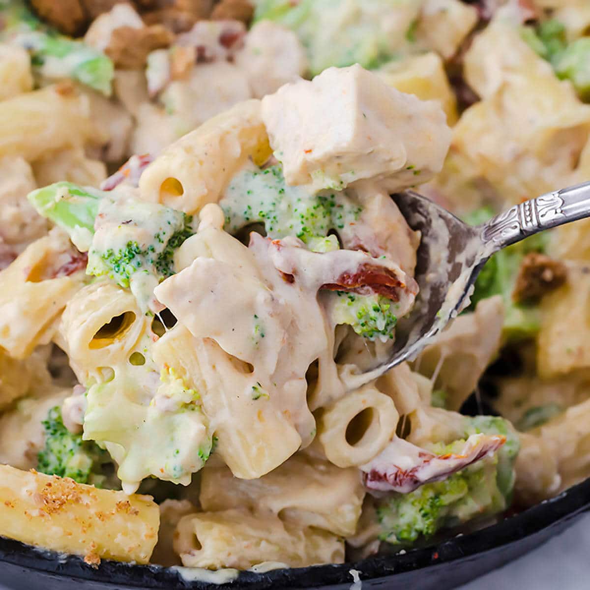
[[[560,287],[567,278],[566,267],[545,254],[530,252],[523,258],[512,293],[514,301],[534,301]]]

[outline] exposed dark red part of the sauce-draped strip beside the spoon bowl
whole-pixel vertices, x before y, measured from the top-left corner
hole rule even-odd
[[[415,283],[413,279],[412,283]],[[399,301],[399,290],[406,288],[414,294],[418,293],[417,285],[406,285],[399,280],[394,271],[373,264],[363,264],[356,273],[343,273],[337,278],[336,283],[326,283],[320,287],[320,289],[329,291],[348,291],[350,293],[367,293],[371,291],[392,301]]]

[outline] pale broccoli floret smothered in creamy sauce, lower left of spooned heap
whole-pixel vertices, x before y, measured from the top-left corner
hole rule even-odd
[[[186,486],[191,474],[205,464],[214,444],[200,395],[173,368],[166,367],[160,372],[156,394],[145,405],[138,371],[147,371],[143,374],[152,383],[157,380],[157,373],[146,362],[135,368],[127,365],[112,381],[90,386],[84,438],[109,450],[128,493],[150,476]],[[120,395],[121,391],[126,394]]]

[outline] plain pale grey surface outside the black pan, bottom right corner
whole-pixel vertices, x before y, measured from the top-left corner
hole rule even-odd
[[[457,590],[587,590],[590,514],[555,539]],[[0,584],[0,590],[8,590]],[[31,588],[31,590],[43,590]]]

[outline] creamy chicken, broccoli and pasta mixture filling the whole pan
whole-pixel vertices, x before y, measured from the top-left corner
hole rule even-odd
[[[0,0],[0,536],[361,559],[590,475],[588,237],[419,304],[406,189],[473,224],[590,175],[585,0]]]

